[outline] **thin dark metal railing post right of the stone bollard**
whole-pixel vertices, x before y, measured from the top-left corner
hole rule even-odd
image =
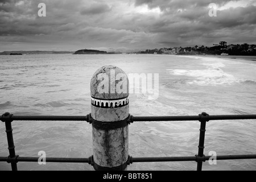
[[[204,156],[204,139],[205,139],[205,126],[206,122],[209,121],[209,114],[207,113],[202,113],[199,114],[200,119],[199,121],[201,122],[200,124],[200,135],[199,135],[199,146],[198,146],[198,156],[203,157]],[[202,171],[202,166],[203,162],[202,161],[197,161],[197,171]]]

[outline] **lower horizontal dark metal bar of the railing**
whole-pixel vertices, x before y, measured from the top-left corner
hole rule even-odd
[[[196,161],[203,162],[209,160],[213,156],[181,156],[181,157],[154,157],[154,158],[133,158],[132,162],[181,162]],[[18,157],[9,159],[9,162],[38,162],[39,158],[34,157]],[[216,160],[234,160],[234,159],[256,159],[256,154],[251,155],[219,155]],[[7,157],[0,157],[0,162],[7,162]],[[89,163],[89,158],[46,158],[46,162],[55,163]]]

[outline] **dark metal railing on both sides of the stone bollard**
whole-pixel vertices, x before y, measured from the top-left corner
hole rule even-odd
[[[250,115],[208,115],[202,113],[194,116],[164,116],[164,117],[134,117],[129,115],[127,123],[133,122],[150,122],[150,121],[200,121],[200,135],[198,154],[195,156],[180,156],[180,157],[155,157],[155,158],[133,158],[129,156],[127,164],[130,165],[136,162],[181,162],[195,161],[197,162],[197,171],[202,170],[203,162],[209,160],[212,156],[204,155],[204,140],[206,123],[210,120],[233,120],[233,119],[256,119],[256,114]],[[9,149],[8,157],[0,157],[0,162],[11,163],[13,171],[17,171],[18,162],[38,162],[38,158],[20,157],[15,154],[15,146],[13,140],[13,129],[11,122],[13,121],[86,121],[92,123],[90,114],[86,116],[22,116],[5,113],[1,117],[1,121],[5,122],[7,142]],[[233,160],[233,159],[256,159],[256,154],[252,155],[218,155],[216,160]],[[88,163],[93,166],[93,155],[89,158],[46,158],[46,162],[58,163]]]

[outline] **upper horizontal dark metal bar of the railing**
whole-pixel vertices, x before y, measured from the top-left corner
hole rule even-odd
[[[88,116],[50,116],[50,115],[13,115],[14,121],[88,121]],[[134,122],[139,121],[198,121],[199,115],[186,116],[133,116]],[[256,119],[256,114],[249,115],[209,115],[209,120]]]

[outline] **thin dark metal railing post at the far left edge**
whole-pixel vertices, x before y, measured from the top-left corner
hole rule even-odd
[[[6,135],[7,135],[7,142],[8,142],[8,149],[9,149],[9,158],[15,158],[15,146],[14,146],[14,141],[13,141],[13,129],[11,128],[11,122],[13,120],[11,119],[13,114],[10,113],[5,113],[2,115],[1,121],[5,122],[5,127],[6,127]],[[7,160],[8,162],[9,160]],[[8,162],[9,163],[9,162]],[[16,162],[11,162],[11,169],[13,171],[18,171],[17,164]]]

